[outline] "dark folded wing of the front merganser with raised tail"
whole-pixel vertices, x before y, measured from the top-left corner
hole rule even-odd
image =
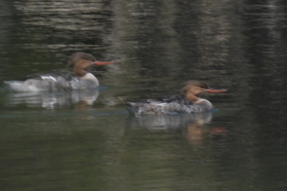
[[[152,103],[152,104],[158,104],[158,103],[178,103],[181,105],[191,105],[193,104],[192,101],[189,101],[185,97],[181,96],[176,96],[176,95],[166,95],[161,98],[155,98],[155,99],[148,99],[146,101],[147,103]]]

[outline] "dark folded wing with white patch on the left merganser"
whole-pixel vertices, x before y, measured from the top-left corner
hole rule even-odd
[[[71,81],[74,77],[72,74],[63,71],[49,71],[49,72],[39,72],[35,74],[30,74],[27,79],[45,80],[45,79],[57,79],[61,76],[67,81]]]

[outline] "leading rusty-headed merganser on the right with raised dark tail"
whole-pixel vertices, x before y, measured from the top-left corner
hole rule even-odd
[[[222,93],[227,90],[210,88],[205,82],[189,81],[182,88],[181,96],[164,96],[157,99],[148,99],[143,103],[128,102],[122,98],[120,101],[126,105],[129,113],[133,114],[173,114],[173,113],[195,113],[207,112],[212,109],[212,104],[206,99],[198,96],[203,92]]]

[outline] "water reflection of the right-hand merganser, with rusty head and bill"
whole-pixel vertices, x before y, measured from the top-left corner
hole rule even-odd
[[[224,127],[206,127],[212,121],[212,113],[184,113],[169,115],[130,116],[128,127],[146,128],[151,131],[182,133],[187,142],[201,145],[207,137],[220,137],[226,133]]]

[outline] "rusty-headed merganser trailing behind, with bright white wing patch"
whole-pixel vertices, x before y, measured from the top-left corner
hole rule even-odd
[[[86,68],[92,65],[113,64],[114,62],[98,61],[91,54],[77,52],[72,55],[70,65],[75,76],[65,72],[33,74],[33,78],[25,81],[4,81],[9,89],[18,92],[56,92],[76,89],[92,89],[98,87],[98,79]]]

